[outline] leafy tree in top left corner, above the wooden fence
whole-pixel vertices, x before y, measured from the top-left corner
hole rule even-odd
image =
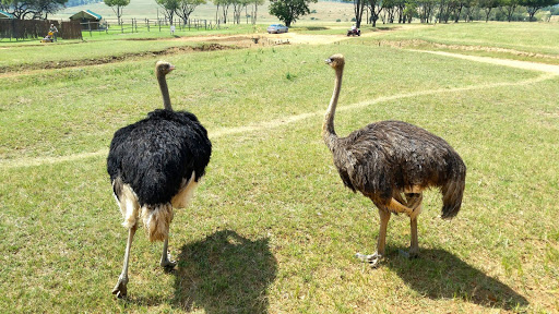
[[[12,14],[17,20],[46,19],[63,8],[66,0],[1,0],[0,10]]]

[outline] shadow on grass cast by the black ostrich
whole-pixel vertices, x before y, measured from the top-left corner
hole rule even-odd
[[[276,273],[267,238],[252,241],[217,231],[181,247],[174,305],[206,313],[267,313],[266,289]]]

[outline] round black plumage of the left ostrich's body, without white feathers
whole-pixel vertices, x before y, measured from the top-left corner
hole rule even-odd
[[[211,154],[207,132],[194,114],[157,109],[115,133],[107,171],[112,182],[118,178],[132,188],[140,206],[165,204],[192,172],[197,182],[204,176]]]

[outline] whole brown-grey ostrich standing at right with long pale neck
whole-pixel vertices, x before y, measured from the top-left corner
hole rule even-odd
[[[459,154],[441,137],[401,121],[371,123],[338,137],[334,131],[344,57],[334,55],[325,60],[335,70],[334,93],[330,101],[322,137],[333,154],[334,165],[344,184],[359,191],[379,208],[380,231],[377,252],[356,256],[376,267],[384,255],[386,226],[391,213],[404,213],[411,218],[409,257],[418,252],[417,216],[421,213],[423,191],[437,186],[442,193],[443,219],[460,210],[466,179],[466,166]]]

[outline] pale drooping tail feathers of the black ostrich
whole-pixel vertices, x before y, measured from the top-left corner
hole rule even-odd
[[[173,206],[170,204],[142,206],[142,220],[147,230],[150,241],[164,241],[167,239],[173,215]]]

